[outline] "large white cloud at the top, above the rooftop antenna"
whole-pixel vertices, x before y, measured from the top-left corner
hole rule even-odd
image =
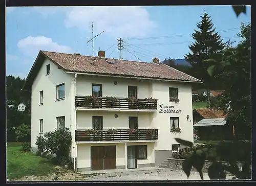
[[[156,24],[142,7],[76,7],[67,11],[65,26],[89,31],[95,24],[95,33],[104,31],[115,37],[148,35]]]

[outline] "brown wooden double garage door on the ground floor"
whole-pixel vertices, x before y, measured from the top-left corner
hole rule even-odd
[[[116,146],[91,147],[92,170],[116,169]]]

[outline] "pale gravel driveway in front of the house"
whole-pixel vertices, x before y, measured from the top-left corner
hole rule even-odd
[[[207,173],[203,174],[205,180],[209,180]],[[232,175],[227,175],[226,179],[231,179]],[[153,169],[143,171],[112,172],[91,175],[88,181],[96,180],[187,180],[186,174],[181,171],[171,169]],[[198,172],[191,172],[188,180],[200,180]]]

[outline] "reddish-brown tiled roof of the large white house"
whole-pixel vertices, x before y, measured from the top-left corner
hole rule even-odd
[[[153,62],[138,62],[129,60],[120,61],[118,59],[95,57],[94,65],[92,65],[92,56],[63,54],[47,51],[41,52],[63,69],[71,72],[202,82],[197,78],[191,77],[176,70],[175,68],[161,63],[155,64]],[[108,63],[106,60],[111,60],[114,63]]]

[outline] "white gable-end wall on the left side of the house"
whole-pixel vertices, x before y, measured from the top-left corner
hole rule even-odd
[[[46,75],[46,65],[50,64],[50,74]],[[32,85],[31,98],[31,146],[35,148],[36,136],[40,132],[39,120],[44,121],[44,133],[57,127],[56,117],[65,115],[66,127],[71,128],[74,115],[74,75],[65,74],[50,60],[42,64]],[[56,101],[56,85],[65,83],[65,99]],[[39,91],[44,91],[44,102],[39,105]],[[72,112],[73,110],[73,112]],[[71,129],[72,130],[72,129]],[[42,135],[42,134],[40,134]]]

